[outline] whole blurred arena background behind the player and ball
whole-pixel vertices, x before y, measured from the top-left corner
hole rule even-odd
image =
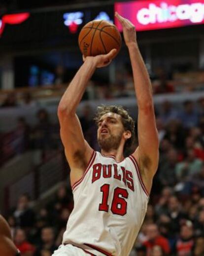
[[[204,256],[204,0],[1,0],[0,213],[22,256],[51,256],[61,244],[73,198],[57,107],[82,64],[81,28],[94,19],[115,23],[114,11],[136,25],[160,139],[131,256]],[[124,43],[95,72],[78,107],[96,150],[93,116],[102,103],[123,105],[136,121]]]

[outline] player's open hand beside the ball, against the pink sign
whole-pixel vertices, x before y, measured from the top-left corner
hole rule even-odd
[[[136,43],[136,28],[128,19],[123,18],[117,12],[115,12],[115,17],[119,20],[123,27],[123,36],[127,46],[132,43]]]

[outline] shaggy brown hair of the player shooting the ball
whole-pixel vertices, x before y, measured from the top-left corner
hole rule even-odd
[[[130,115],[128,114],[128,112],[122,107],[122,106],[99,106],[97,108],[97,113],[96,116],[94,118],[96,124],[98,125],[101,117],[106,114],[106,113],[116,113],[118,115],[121,116],[121,121],[123,124],[123,127],[125,130],[130,130],[132,136],[126,140],[125,145],[124,145],[124,152],[127,152],[130,150],[130,148],[133,147],[133,144],[135,142],[135,123],[132,119],[132,117],[130,117]],[[129,150],[127,150],[129,149]]]

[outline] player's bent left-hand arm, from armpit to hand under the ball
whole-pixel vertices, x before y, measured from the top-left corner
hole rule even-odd
[[[84,58],[83,65],[74,76],[60,101],[58,107],[60,134],[71,170],[85,171],[84,168],[92,154],[91,147],[84,139],[76,115],[76,108],[95,69],[108,65],[114,53],[115,50],[112,50],[106,55]]]

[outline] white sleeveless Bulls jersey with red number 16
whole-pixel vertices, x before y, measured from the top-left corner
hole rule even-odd
[[[95,256],[128,256],[142,225],[148,193],[136,159],[117,163],[93,152],[83,177],[72,186],[74,209],[63,244]]]

